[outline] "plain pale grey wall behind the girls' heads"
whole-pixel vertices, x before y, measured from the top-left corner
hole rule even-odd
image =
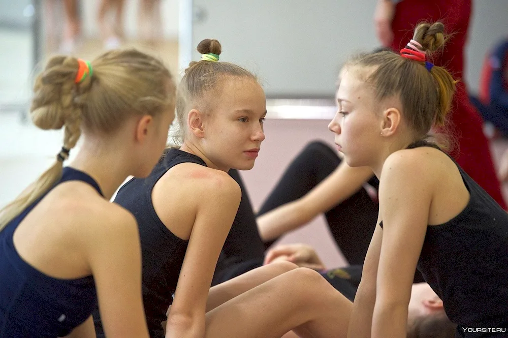
[[[190,51],[204,38],[218,39],[222,59],[257,72],[269,97],[332,97],[347,55],[378,46],[374,6],[375,0],[194,0],[192,44],[182,47]],[[466,60],[471,91],[478,88],[485,52],[508,36],[507,14],[507,0],[473,2]]]

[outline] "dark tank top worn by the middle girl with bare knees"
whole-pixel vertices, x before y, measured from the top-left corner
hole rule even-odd
[[[161,322],[173,302],[187,240],[174,235],[158,218],[152,204],[155,183],[172,167],[192,162],[206,167],[191,153],[171,148],[147,178],[133,178],[120,188],[115,202],[131,211],[138,222],[143,264],[143,304],[150,337],[164,338]],[[170,191],[168,192],[171,193]],[[99,313],[94,313],[97,337],[104,337]]]

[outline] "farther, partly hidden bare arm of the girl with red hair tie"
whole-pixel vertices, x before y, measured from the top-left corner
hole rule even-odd
[[[377,223],[380,221],[380,215],[379,213]],[[377,265],[382,247],[382,238],[383,229],[376,225],[363,263],[362,280],[353,303],[353,312],[347,329],[348,338],[370,338],[372,314],[376,301]]]

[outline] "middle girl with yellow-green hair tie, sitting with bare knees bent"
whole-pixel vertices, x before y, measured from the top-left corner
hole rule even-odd
[[[281,262],[210,288],[241,198],[228,171],[254,165],[266,99],[254,75],[219,61],[217,40],[198,51],[177,91],[180,146],[115,198],[138,221],[150,336],[345,337],[352,303],[316,271]]]

